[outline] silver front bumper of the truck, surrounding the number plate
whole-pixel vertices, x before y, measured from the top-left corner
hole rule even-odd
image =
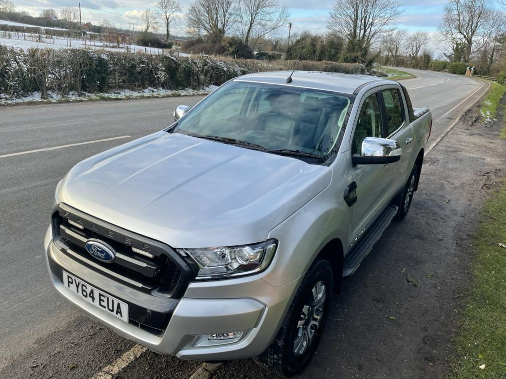
[[[274,339],[288,305],[302,279],[273,287],[259,275],[190,283],[184,297],[146,299],[143,293],[126,287],[62,253],[52,241],[51,228],[45,239],[48,269],[55,288],[90,317],[160,354],[192,360],[227,360],[256,356]],[[91,285],[129,302],[148,305],[156,314],[170,315],[161,335],[126,323],[67,290],[61,280],[66,270]],[[242,331],[235,340],[208,341],[206,335]]]

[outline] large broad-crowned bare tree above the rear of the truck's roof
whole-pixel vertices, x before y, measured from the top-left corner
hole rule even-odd
[[[398,0],[336,0],[327,20],[327,28],[348,40],[355,54],[364,56],[373,40],[392,29],[401,15]]]

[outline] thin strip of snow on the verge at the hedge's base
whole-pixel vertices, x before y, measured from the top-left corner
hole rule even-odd
[[[60,102],[79,102],[89,100],[125,100],[125,99],[142,99],[142,98],[168,98],[177,96],[195,96],[211,93],[216,85],[209,85],[203,89],[162,89],[162,88],[146,88],[143,90],[122,89],[114,92],[104,93],[75,93],[70,92],[67,96],[59,96],[57,93],[50,91],[48,99],[41,99],[39,92],[33,92],[29,96],[17,99],[2,98],[0,94],[0,105],[21,104],[21,103],[60,103]]]

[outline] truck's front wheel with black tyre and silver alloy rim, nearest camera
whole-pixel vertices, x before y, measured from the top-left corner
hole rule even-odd
[[[276,339],[255,358],[260,366],[285,377],[306,367],[323,332],[333,284],[330,263],[316,260],[304,276]]]

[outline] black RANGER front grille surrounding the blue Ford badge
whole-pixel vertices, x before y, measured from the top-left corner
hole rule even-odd
[[[171,247],[66,204],[60,204],[53,215],[53,235],[73,259],[153,296],[180,298],[192,276],[191,268]],[[105,263],[88,253],[85,245],[92,238],[114,248],[114,261]]]

